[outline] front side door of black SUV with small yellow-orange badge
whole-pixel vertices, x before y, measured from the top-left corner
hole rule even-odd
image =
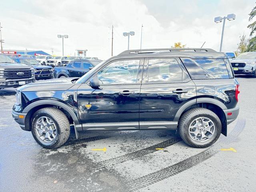
[[[102,89],[78,88],[83,130],[139,129],[139,100],[144,60],[117,60],[97,72]]]

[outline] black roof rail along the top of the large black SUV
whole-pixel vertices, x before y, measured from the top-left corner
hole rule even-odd
[[[135,49],[135,50],[126,50],[118,55],[130,55],[130,54],[152,54],[161,51],[170,51],[170,52],[178,52],[178,51],[185,51],[185,52],[216,52],[213,49],[208,48],[164,48],[164,49]]]

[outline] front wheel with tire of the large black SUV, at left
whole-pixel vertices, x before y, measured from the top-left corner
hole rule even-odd
[[[42,125],[40,124],[42,121],[40,122],[40,120],[44,119],[44,122],[46,122],[46,118],[48,118],[48,122],[53,123],[54,125],[48,126],[47,123],[48,131],[45,132],[45,130],[42,129]],[[55,134],[50,134],[50,131],[54,132],[54,128],[56,130]],[[35,112],[32,118],[31,132],[34,139],[40,146],[44,148],[55,149],[62,146],[68,140],[70,135],[70,123],[66,115],[61,110],[57,108],[46,107]],[[42,138],[45,137],[45,140],[40,138],[41,132],[43,132]],[[52,136],[50,137],[52,140],[46,138],[48,137],[46,136],[47,132],[48,135]]]

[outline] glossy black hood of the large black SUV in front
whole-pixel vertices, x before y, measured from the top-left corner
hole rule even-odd
[[[60,79],[49,79],[30,83],[17,88],[20,92],[25,91],[56,91],[56,90],[68,90],[75,84],[72,80],[78,78],[60,78]]]

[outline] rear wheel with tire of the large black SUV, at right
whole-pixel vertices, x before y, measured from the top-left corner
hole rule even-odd
[[[196,120],[198,120],[198,124],[193,124],[196,123]],[[198,126],[203,120],[203,124],[205,124],[208,120],[210,120],[211,122],[201,127]],[[204,128],[206,130],[209,130],[209,128],[211,128],[210,131],[212,132],[212,134],[204,130]],[[214,131],[212,130],[213,128]],[[211,146],[220,137],[221,130],[222,124],[218,116],[214,112],[206,108],[193,108],[188,110],[181,116],[178,123],[178,132],[180,134],[180,137],[186,144],[194,148],[205,148]],[[204,136],[201,133],[204,134]]]

